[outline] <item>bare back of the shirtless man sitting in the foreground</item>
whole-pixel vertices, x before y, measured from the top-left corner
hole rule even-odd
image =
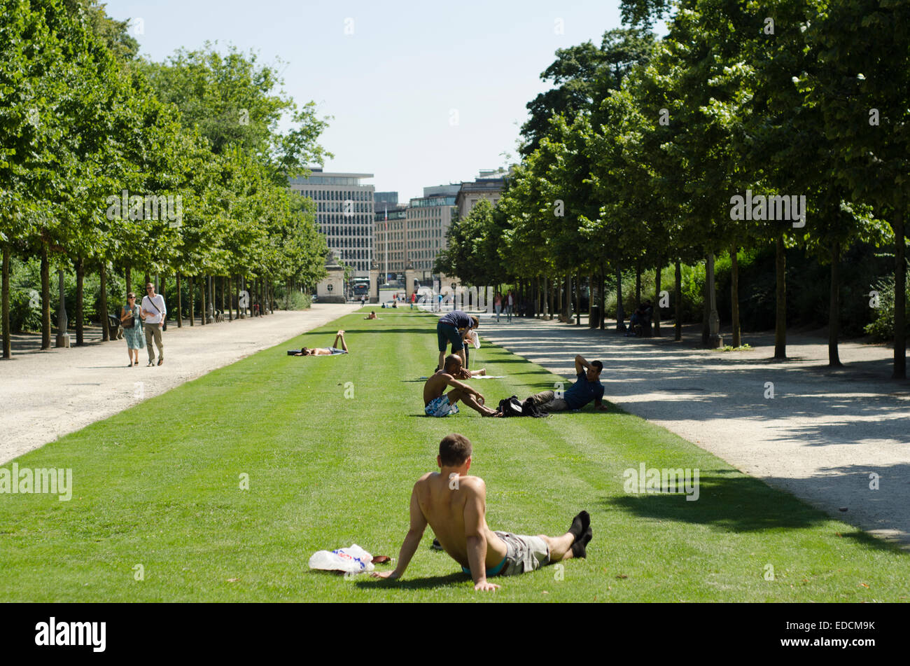
[[[492,569],[506,556],[506,544],[490,530],[486,520],[486,484],[480,477],[452,476],[439,472],[424,474],[414,484],[420,512],[440,540],[440,546],[462,567],[470,569],[468,540],[464,528],[465,510],[469,504],[479,508],[480,525],[487,541],[485,566]]]

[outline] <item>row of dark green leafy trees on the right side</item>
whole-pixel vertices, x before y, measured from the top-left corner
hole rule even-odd
[[[738,346],[737,250],[769,245],[774,356],[785,358],[784,250],[803,247],[830,264],[837,366],[841,258],[859,242],[891,247],[894,377],[905,378],[910,33],[901,26],[910,3],[624,0],[622,8],[629,27],[607,32],[600,48],[557,52],[541,75],[555,86],[528,105],[521,164],[499,206],[452,227],[438,268],[471,284],[530,281],[533,300],[549,300],[550,311],[555,289],[568,312],[572,278],[603,285],[623,269],[656,267],[659,293],[668,265],[679,307],[681,264],[704,260],[707,339],[718,327],[713,259],[729,253]],[[668,34],[657,39],[651,26],[662,17]],[[622,326],[622,308],[619,318]],[[678,338],[679,317],[676,326]]]

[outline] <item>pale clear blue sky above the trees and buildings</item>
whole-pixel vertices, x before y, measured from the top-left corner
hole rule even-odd
[[[334,116],[326,170],[375,174],[365,182],[399,200],[504,166],[503,152],[517,161],[525,105],[548,87],[556,49],[621,27],[619,0],[110,0],[107,13],[141,18],[135,36],[154,60],[206,40],[280,58],[288,95]]]

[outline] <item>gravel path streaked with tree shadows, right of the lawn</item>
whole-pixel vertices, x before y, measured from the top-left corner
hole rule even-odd
[[[891,348],[843,343],[845,367],[832,370],[826,339],[790,335],[790,358],[774,362],[771,335],[743,336],[753,350],[722,353],[695,348],[700,327],[673,342],[555,321],[502,321],[484,317],[482,336],[570,378],[576,353],[599,358],[604,398],[910,549],[910,382],[890,379]],[[765,398],[766,382],[773,382],[773,399]]]

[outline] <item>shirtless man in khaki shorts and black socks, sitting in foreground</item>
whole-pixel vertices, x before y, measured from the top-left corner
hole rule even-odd
[[[581,511],[561,537],[524,536],[493,531],[487,525],[487,486],[468,476],[472,448],[468,438],[453,433],[440,442],[439,472],[427,472],[410,493],[410,529],[393,571],[374,571],[373,578],[399,579],[429,524],[440,544],[474,580],[474,590],[497,590],[492,576],[514,576],[545,564],[587,556],[591,517]]]

